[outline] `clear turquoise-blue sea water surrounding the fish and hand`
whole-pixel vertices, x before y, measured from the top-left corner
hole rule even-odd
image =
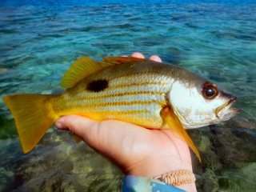
[[[50,94],[81,56],[158,54],[210,78],[247,111],[190,132],[205,159],[194,160],[198,191],[254,191],[256,3],[138,2],[0,2],[0,97]],[[68,133],[52,129],[35,150],[22,154],[2,101],[0,127],[0,190],[120,189],[122,174]]]

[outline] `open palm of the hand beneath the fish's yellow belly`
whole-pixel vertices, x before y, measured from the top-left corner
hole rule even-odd
[[[184,164],[191,167],[188,146],[171,130],[148,130],[126,122],[105,121],[99,123],[95,139],[105,142],[99,147],[100,152],[128,174],[155,176],[162,174],[166,166],[170,166],[168,171],[178,170],[177,166],[184,169]]]

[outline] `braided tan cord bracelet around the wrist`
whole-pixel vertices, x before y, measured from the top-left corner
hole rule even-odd
[[[171,186],[181,186],[195,182],[194,174],[190,170],[174,170],[166,174],[161,174],[153,179],[160,182],[166,182]]]

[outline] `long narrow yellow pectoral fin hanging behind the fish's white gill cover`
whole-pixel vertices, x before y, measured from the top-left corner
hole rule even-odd
[[[170,109],[168,106],[164,106],[160,112],[163,122],[169,126],[171,130],[174,130],[175,133],[178,134],[178,136],[186,142],[188,146],[190,146],[190,149],[194,151],[194,154],[196,154],[198,160],[201,162],[201,157],[198,152],[198,149],[196,146],[194,146],[194,142],[191,140],[190,136],[186,133],[186,130],[182,126],[182,122],[179,121],[176,114],[174,114],[174,111]]]

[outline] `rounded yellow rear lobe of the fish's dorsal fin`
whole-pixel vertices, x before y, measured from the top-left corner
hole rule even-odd
[[[61,86],[64,88],[70,88],[76,83],[87,77],[94,72],[101,70],[101,62],[95,62],[91,58],[78,58],[71,66],[66,70],[61,82]]]

